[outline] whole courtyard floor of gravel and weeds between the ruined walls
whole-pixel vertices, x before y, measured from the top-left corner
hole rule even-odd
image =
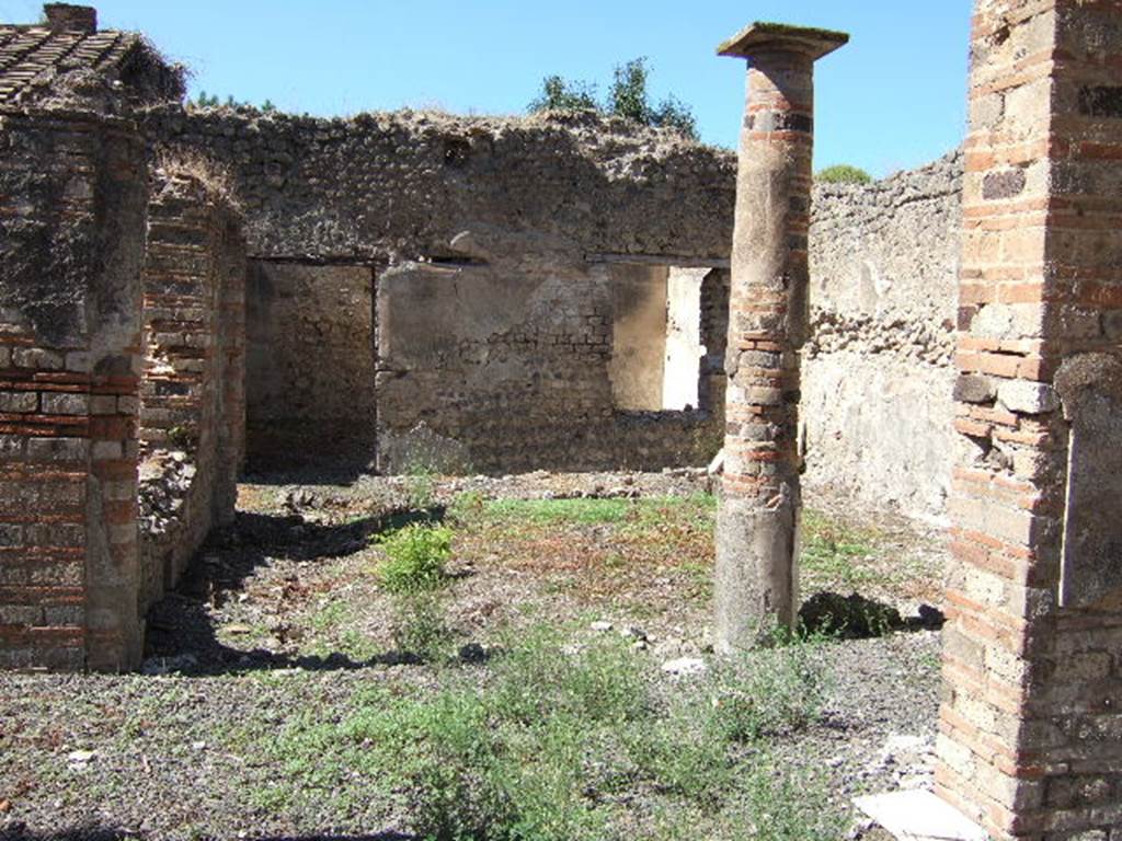
[[[872,838],[930,779],[941,546],[839,506],[802,627],[718,658],[703,473],[243,484],[142,674],[0,676],[0,838]]]

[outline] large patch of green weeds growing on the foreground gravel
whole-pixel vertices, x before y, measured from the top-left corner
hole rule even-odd
[[[533,628],[482,675],[445,667],[435,688],[364,686],[295,710],[241,740],[272,773],[250,796],[348,815],[377,804],[435,841],[842,837],[822,780],[770,757],[774,733],[817,720],[812,644],[668,684],[624,640],[570,639]]]

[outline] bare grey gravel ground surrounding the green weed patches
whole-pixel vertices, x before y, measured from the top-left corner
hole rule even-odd
[[[407,816],[376,797],[347,814],[266,804],[260,792],[283,769],[238,736],[246,722],[268,728],[294,711],[330,717],[373,684],[441,680],[439,668],[393,650],[370,537],[419,493],[435,503],[466,491],[657,500],[698,498],[707,486],[698,471],[539,473],[425,488],[416,479],[243,486],[236,527],[153,610],[146,674],[0,675],[0,838],[406,838]],[[845,510],[811,503],[835,516]],[[497,520],[465,529],[451,567],[457,644],[486,646],[496,629],[519,622],[569,622],[577,637],[610,622],[611,631],[599,632],[641,628],[652,669],[708,656],[710,526],[691,505],[668,503],[664,517],[632,517],[626,527],[515,529]],[[862,592],[908,612],[937,592],[941,544],[934,529],[898,518],[872,525],[872,548],[853,560],[870,584]],[[894,566],[907,575],[882,574]],[[831,644],[824,720],[774,749],[825,769],[839,802],[929,785],[939,646],[937,630]],[[874,837],[859,825],[854,834]]]

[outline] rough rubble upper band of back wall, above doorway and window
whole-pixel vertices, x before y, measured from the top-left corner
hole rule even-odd
[[[148,132],[229,167],[255,258],[441,258],[479,224],[585,252],[728,257],[734,157],[619,119],[173,108]]]

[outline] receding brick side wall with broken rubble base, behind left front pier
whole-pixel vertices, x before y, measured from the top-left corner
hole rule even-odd
[[[229,521],[243,459],[245,241],[214,186],[160,169],[148,213],[140,606]]]

